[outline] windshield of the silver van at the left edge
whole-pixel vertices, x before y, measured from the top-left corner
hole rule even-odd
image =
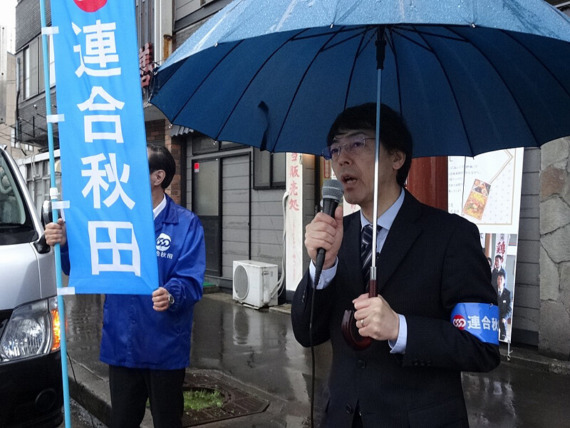
[[[0,151],[0,245],[29,243],[37,239],[37,233],[4,156]]]

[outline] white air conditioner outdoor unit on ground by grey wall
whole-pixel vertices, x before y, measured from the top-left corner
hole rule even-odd
[[[277,265],[254,260],[234,260],[234,300],[253,307],[277,305]]]

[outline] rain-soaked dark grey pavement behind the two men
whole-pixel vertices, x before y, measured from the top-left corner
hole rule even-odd
[[[98,362],[102,302],[98,295],[66,297],[68,352],[106,376]],[[325,401],[330,351],[328,344],[316,347],[316,414]],[[244,307],[225,293],[204,295],[195,307],[190,355],[191,370],[223,373],[271,401],[264,414],[216,427],[306,427],[311,353],[294,339],[286,313]],[[570,427],[568,376],[502,362],[488,374],[464,373],[463,384],[472,428]]]

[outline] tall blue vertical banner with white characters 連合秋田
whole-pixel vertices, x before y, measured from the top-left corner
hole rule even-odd
[[[135,2],[51,2],[61,187],[76,293],[158,286]]]

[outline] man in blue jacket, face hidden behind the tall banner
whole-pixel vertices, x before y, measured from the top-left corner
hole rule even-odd
[[[204,230],[197,215],[165,194],[175,175],[172,154],[147,146],[159,287],[147,295],[107,295],[100,360],[109,365],[111,428],[139,428],[150,400],[155,428],[181,428],[182,384],[190,365],[195,303],[206,267]],[[49,245],[61,244],[69,274],[63,220],[46,225]]]

